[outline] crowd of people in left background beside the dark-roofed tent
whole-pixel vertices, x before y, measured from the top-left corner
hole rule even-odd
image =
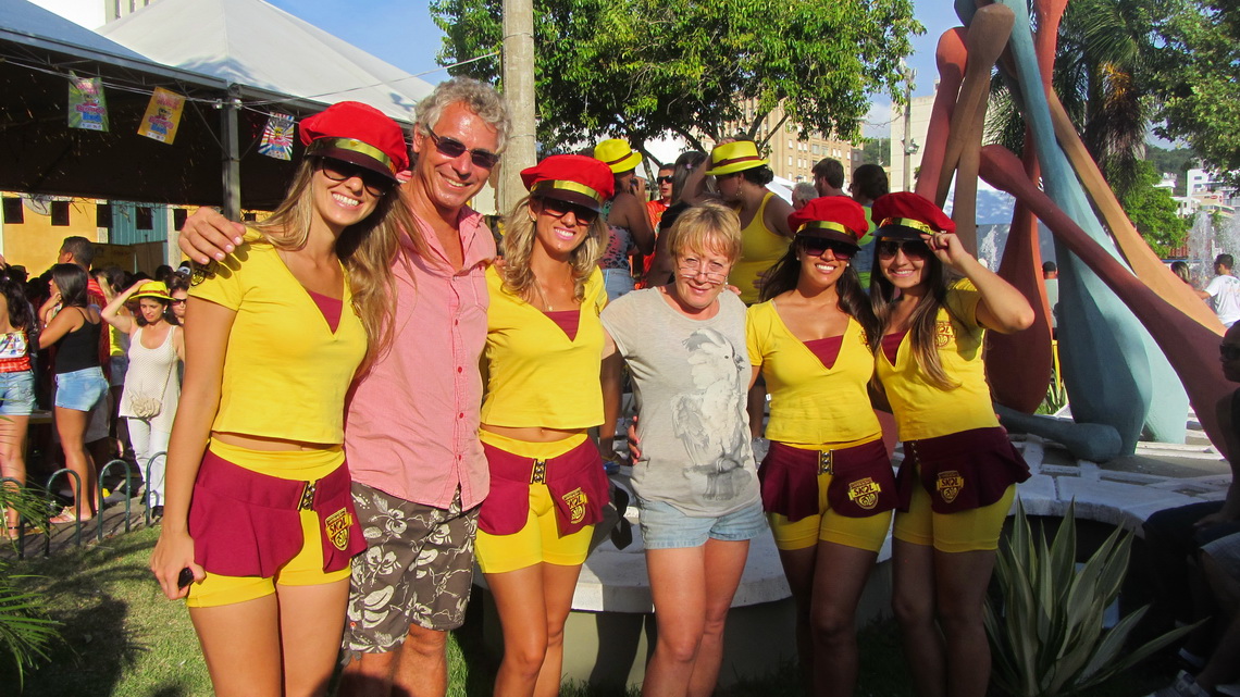
[[[188,265],[161,265],[156,278],[115,265],[91,270],[94,251],[84,237],[68,237],[57,263],[37,277],[7,263],[0,270],[6,310],[0,317],[6,320],[0,340],[0,469],[26,484],[32,453],[31,464],[43,476],[62,466],[69,470],[53,482],[67,505],[51,523],[88,521],[100,501],[115,501],[110,489],[124,481],[124,473],[112,468],[102,484],[98,475],[118,459],[130,466],[131,491],[124,494],[145,486],[154,515],[162,510],[162,454],[180,391],[176,327],[185,314]],[[135,346],[130,336],[144,340]],[[153,352],[165,347],[172,353],[153,368]],[[129,376],[131,358],[143,377]],[[51,428],[32,424],[32,415],[51,415]],[[6,512],[5,528],[9,538],[20,535],[15,511]]]

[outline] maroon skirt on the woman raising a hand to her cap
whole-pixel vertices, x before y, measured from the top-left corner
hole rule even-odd
[[[901,511],[909,510],[913,487],[920,484],[930,494],[934,512],[957,513],[990,506],[1008,486],[1027,479],[1029,465],[1008,440],[1007,429],[997,425],[905,440],[897,487]]]

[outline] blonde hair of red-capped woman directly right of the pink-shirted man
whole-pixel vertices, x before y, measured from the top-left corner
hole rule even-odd
[[[531,203],[541,201],[541,197],[526,196],[512,208],[503,222],[503,269],[500,272],[503,279],[503,289],[525,301],[533,300],[534,272],[529,268],[529,254],[534,249],[534,221]],[[599,265],[599,258],[606,248],[608,226],[603,222],[603,216],[594,218],[590,228],[585,232],[585,239],[569,254],[569,263],[573,267],[573,296],[578,301],[585,299],[585,282],[589,280],[594,268]]]

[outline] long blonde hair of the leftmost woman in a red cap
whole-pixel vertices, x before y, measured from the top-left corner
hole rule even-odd
[[[269,217],[252,227],[277,249],[294,251],[305,247],[310,238],[314,216],[314,191],[310,186],[317,158],[305,158],[289,186],[289,193]],[[405,193],[393,185],[379,197],[374,211],[357,224],[345,228],[336,239],[336,255],[348,269],[348,285],[353,294],[353,311],[366,330],[366,370],[392,345],[392,324],[396,316],[396,282],[392,263],[402,234],[408,234],[419,254],[427,251],[425,241]]]

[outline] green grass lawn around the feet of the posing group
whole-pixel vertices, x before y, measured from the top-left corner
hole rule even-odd
[[[52,558],[15,562],[10,570],[32,574],[21,587],[47,594],[53,619],[63,623],[64,641],[52,647],[51,662],[26,676],[22,697],[198,697],[211,695],[211,681],[185,604],[169,602],[146,568],[159,535],[141,530],[99,546]],[[482,649],[480,618],[471,613],[466,626],[449,644],[449,695],[481,697],[491,693],[495,657]],[[911,695],[911,680],[901,655],[899,630],[885,621],[862,630],[861,677],[857,696]],[[1174,667],[1148,661],[1084,697],[1138,697],[1167,685]],[[16,692],[10,666],[0,668],[0,693]],[[635,697],[627,692],[567,683],[565,697]],[[792,665],[771,666],[761,680],[749,680],[727,691],[728,697],[792,697],[802,695]]]

